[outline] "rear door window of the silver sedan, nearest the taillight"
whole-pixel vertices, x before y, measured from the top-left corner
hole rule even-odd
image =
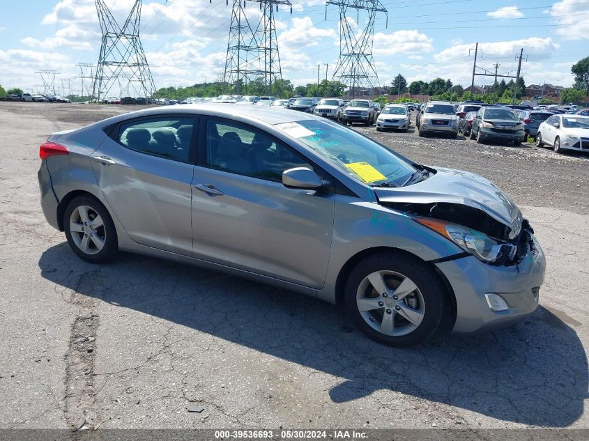
[[[118,144],[146,155],[188,162],[195,118],[141,118],[118,126]]]

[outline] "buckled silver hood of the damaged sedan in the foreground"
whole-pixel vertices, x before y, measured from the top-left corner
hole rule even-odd
[[[466,171],[436,168],[436,173],[407,187],[374,187],[379,201],[392,203],[456,203],[477,208],[519,234],[521,211],[494,183]]]

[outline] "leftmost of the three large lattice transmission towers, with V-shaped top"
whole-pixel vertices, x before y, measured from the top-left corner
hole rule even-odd
[[[153,78],[139,39],[142,0],[135,0],[123,26],[119,26],[104,0],[94,0],[102,30],[102,45],[92,95],[106,98],[119,78],[128,79],[128,93],[146,97],[155,92]],[[118,91],[119,93],[121,91]]]

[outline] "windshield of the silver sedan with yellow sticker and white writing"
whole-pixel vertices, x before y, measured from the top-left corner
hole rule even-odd
[[[277,125],[344,173],[369,185],[401,186],[415,172],[409,162],[357,132],[326,121]]]

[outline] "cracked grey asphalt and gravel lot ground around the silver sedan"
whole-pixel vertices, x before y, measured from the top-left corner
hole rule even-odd
[[[310,297],[70,252],[40,210],[38,147],[132,109],[0,103],[0,428],[589,428],[589,155],[358,127],[494,180],[547,257],[527,320],[396,349]]]

